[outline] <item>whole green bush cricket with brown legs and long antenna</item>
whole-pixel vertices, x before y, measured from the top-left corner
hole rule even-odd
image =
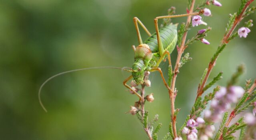
[[[141,100],[140,94],[138,94],[136,91],[134,91],[128,84],[126,84],[129,80],[133,78],[134,82],[138,85],[144,84],[144,72],[155,72],[158,71],[162,77],[162,80],[164,82],[164,85],[169,90],[169,92],[172,92],[168,84],[166,83],[166,80],[164,79],[162,70],[159,68],[159,64],[165,59],[166,55],[168,57],[169,66],[171,66],[171,59],[170,59],[170,53],[174,50],[177,42],[177,24],[169,23],[166,26],[162,28],[158,28],[158,19],[163,18],[178,18],[183,16],[191,16],[191,15],[198,15],[198,12],[190,13],[190,14],[180,14],[180,15],[171,15],[171,16],[158,16],[154,19],[154,24],[156,28],[156,32],[154,34],[151,34],[148,29],[144,26],[144,24],[137,18],[134,17],[133,21],[136,27],[137,36],[138,36],[138,42],[139,45],[137,47],[132,46],[134,49],[134,64],[132,65],[131,70],[126,70],[124,68],[117,68],[117,67],[92,67],[92,68],[81,68],[76,70],[70,70],[66,72],[62,72],[59,74],[56,74],[50,78],[48,78],[41,86],[38,92],[38,99],[40,102],[40,105],[42,108],[47,112],[46,108],[42,104],[41,101],[41,90],[43,86],[50,81],[52,78],[55,78],[57,76],[60,76],[62,74],[80,71],[80,70],[89,70],[89,69],[97,69],[97,68],[116,68],[121,70],[126,70],[128,72],[132,72],[132,75],[126,78],[123,82],[124,86],[134,92],[136,96],[139,97],[139,101]],[[142,28],[146,31],[148,34],[148,38],[142,42],[142,38],[140,35],[140,30],[138,27],[138,23],[142,26]]]

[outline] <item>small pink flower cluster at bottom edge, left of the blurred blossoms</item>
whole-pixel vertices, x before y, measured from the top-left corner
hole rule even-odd
[[[204,123],[205,123],[204,119],[200,117],[196,118],[196,120],[194,119],[188,120],[186,127],[184,127],[182,130],[182,134],[186,134],[187,140],[197,140],[198,130],[196,129],[196,127]]]

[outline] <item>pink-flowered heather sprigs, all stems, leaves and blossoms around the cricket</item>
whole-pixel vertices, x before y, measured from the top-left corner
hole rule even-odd
[[[206,8],[210,4],[214,6],[222,6],[217,0],[205,0],[201,5],[198,5],[194,10],[195,0],[188,0],[187,13],[190,14],[194,11],[198,13],[194,16],[188,16],[186,23],[182,23],[178,30],[177,34],[177,44],[176,49],[178,51],[178,56],[176,60],[175,67],[172,68],[172,65],[168,67],[168,81],[165,82],[165,85],[168,85],[168,92],[171,102],[171,122],[169,124],[168,133],[164,136],[163,140],[168,140],[172,138],[173,140],[233,140],[235,136],[234,132],[241,130],[240,139],[246,137],[244,132],[246,131],[246,118],[241,117],[237,122],[230,125],[231,120],[241,112],[244,112],[249,107],[253,107],[253,114],[256,114],[256,97],[255,90],[256,81],[251,84],[251,80],[246,81],[245,88],[235,85],[238,81],[238,77],[243,74],[244,66],[238,66],[237,72],[234,73],[231,79],[228,81],[226,86],[216,86],[213,92],[206,94],[202,97],[202,94],[211,88],[216,82],[222,79],[222,72],[219,72],[210,82],[207,82],[209,75],[212,71],[212,68],[216,65],[216,60],[220,53],[226,48],[230,40],[234,39],[237,36],[246,38],[248,33],[250,33],[250,27],[252,27],[252,20],[245,22],[244,26],[236,29],[238,24],[244,19],[245,16],[253,13],[256,9],[255,7],[248,8],[253,0],[241,0],[241,5],[238,8],[238,11],[234,14],[230,14],[226,30],[224,32],[224,37],[221,44],[218,46],[216,52],[210,59],[208,68],[204,70],[202,78],[198,84],[197,97],[190,111],[190,115],[187,116],[184,124],[178,130],[176,130],[176,118],[180,112],[180,108],[174,108],[175,97],[177,95],[177,90],[175,87],[175,82],[179,69],[184,66],[187,62],[191,61],[189,53],[183,55],[184,50],[192,43],[196,41],[201,41],[204,44],[210,44],[206,40],[206,36],[211,30],[210,27],[205,29],[200,29],[194,37],[189,40],[186,40],[186,36],[190,28],[199,26],[201,24],[207,25],[202,20],[202,16],[212,16],[210,9]],[[168,10],[168,15],[173,15],[175,13],[175,8],[171,7]],[[164,17],[165,18],[165,17]],[[163,24],[166,26],[170,24],[171,20],[169,18],[164,19]],[[145,87],[150,87],[151,82],[148,80],[147,72],[145,73],[144,83],[141,85],[141,88],[138,88],[135,82],[131,83],[132,89],[134,91],[141,91],[142,99],[137,101],[134,106],[131,107],[130,114],[136,114],[138,119],[142,123],[146,134],[150,140],[158,140],[158,132],[162,126],[159,123],[155,128],[154,125],[158,120],[158,115],[155,118],[148,122],[148,111],[145,110],[144,105],[146,101],[153,102],[153,94],[145,95]],[[134,92],[131,91],[133,94]],[[210,103],[210,108],[207,108],[207,104]],[[235,105],[232,112],[229,112],[232,105]],[[203,118],[202,117],[203,115]],[[247,119],[248,120],[248,119]],[[215,133],[214,124],[220,122],[220,127]],[[253,124],[254,122],[252,122]],[[256,124],[256,118],[255,118]]]

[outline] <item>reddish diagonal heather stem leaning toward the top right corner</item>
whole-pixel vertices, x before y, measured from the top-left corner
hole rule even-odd
[[[202,82],[202,84],[200,85],[200,87],[198,88],[197,91],[197,96],[196,98],[198,98],[199,96],[202,96],[202,94],[204,93],[204,85],[206,84],[209,75],[212,71],[212,68],[215,66],[216,64],[216,60],[218,58],[218,56],[220,55],[220,52],[225,48],[226,44],[228,44],[228,42],[230,41],[229,38],[232,34],[232,32],[234,31],[234,29],[236,28],[236,26],[240,23],[240,21],[244,18],[244,13],[246,12],[246,9],[248,8],[248,6],[253,2],[254,0],[249,0],[246,5],[244,6],[242,12],[240,13],[240,15],[236,16],[236,19],[232,25],[232,28],[230,28],[230,30],[228,31],[227,34],[224,35],[223,39],[222,39],[222,43],[219,46],[217,52],[214,54],[214,57],[211,59],[209,65],[208,65],[208,71],[206,72],[206,76],[204,77],[204,80]]]

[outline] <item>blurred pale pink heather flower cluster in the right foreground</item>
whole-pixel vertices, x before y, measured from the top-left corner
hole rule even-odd
[[[236,103],[244,94],[244,89],[240,86],[230,86],[228,89],[221,87],[212,100],[211,109],[204,112],[204,118],[219,122],[222,113],[230,109],[232,103]]]

